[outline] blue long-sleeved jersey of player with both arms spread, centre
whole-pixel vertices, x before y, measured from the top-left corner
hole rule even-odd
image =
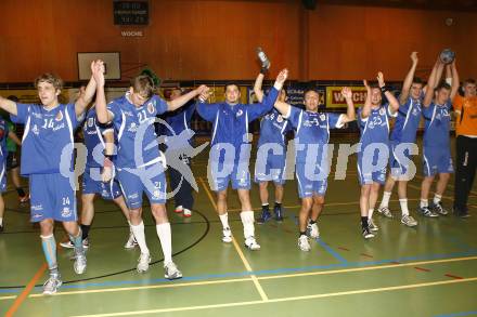
[[[240,158],[241,145],[249,143],[248,123],[263,116],[273,107],[279,91],[270,89],[269,94],[258,104],[197,104],[198,115],[209,122],[212,122],[212,135],[210,146],[218,143],[231,144],[235,148],[235,162]]]

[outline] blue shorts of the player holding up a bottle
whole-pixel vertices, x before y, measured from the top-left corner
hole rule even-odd
[[[285,155],[269,155],[267,161],[260,162],[257,157],[255,163],[255,183],[272,182],[279,185],[285,184]]]

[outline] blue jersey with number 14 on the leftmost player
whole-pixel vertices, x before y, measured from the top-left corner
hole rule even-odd
[[[16,104],[17,115],[12,122],[24,123],[22,141],[22,174],[60,173],[64,148],[70,148],[73,167],[74,131],[79,121],[75,104],[59,104],[47,110],[42,105]]]

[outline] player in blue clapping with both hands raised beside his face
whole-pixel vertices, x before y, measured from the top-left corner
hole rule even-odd
[[[378,87],[366,88],[366,101],[358,109],[360,128],[360,149],[358,151],[358,176],[361,184],[360,211],[361,228],[365,239],[373,238],[378,227],[373,222],[373,211],[379,194],[379,186],[386,180],[386,166],[389,158],[389,119],[398,116],[399,102],[378,72]],[[383,105],[382,93],[388,104]]]

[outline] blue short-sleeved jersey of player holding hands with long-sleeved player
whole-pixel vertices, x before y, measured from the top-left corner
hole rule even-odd
[[[297,107],[289,107],[289,115],[287,120],[295,130],[295,147],[296,147],[296,162],[305,163],[307,160],[308,147],[310,145],[318,145],[319,151],[318,160],[323,161],[321,155],[323,145],[330,142],[330,129],[341,128],[339,122],[340,114],[333,113],[311,113],[301,110]],[[306,145],[305,148],[298,148],[297,144]]]

